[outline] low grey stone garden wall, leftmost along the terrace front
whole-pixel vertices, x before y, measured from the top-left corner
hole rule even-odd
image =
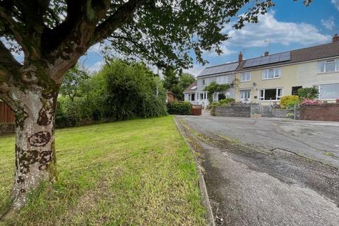
[[[230,107],[215,107],[215,116],[223,117],[251,117],[251,106],[234,105]]]

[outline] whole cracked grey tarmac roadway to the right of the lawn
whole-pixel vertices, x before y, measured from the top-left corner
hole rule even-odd
[[[339,170],[331,166],[338,124],[177,120],[199,156],[218,225],[339,225]]]

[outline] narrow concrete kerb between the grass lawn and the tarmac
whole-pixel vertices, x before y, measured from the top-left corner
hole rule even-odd
[[[206,214],[207,214],[208,225],[215,226],[214,216],[212,212],[212,207],[210,206],[210,198],[208,197],[205,179],[203,179],[203,173],[201,172],[201,169],[198,167],[199,163],[198,163],[198,160],[196,159],[196,155],[194,154],[193,147],[186,140],[184,133],[182,131],[182,128],[179,126],[179,122],[177,121],[177,117],[174,117],[174,123],[177,125],[178,130],[182,134],[184,141],[189,146],[189,149],[191,150],[191,153],[194,157],[194,162],[196,163],[196,172],[198,172],[198,177],[199,177],[199,187],[201,191],[201,196],[203,198],[203,206],[206,208],[206,212],[207,212]]]

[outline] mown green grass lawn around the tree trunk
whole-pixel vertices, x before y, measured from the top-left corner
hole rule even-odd
[[[190,150],[172,117],[57,130],[57,184],[11,225],[206,225]],[[14,136],[0,137],[0,211],[13,183]],[[33,200],[33,198],[31,198]]]

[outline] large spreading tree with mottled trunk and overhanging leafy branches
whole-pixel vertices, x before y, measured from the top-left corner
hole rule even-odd
[[[90,46],[109,40],[129,58],[165,67],[220,53],[222,28],[250,0],[0,0],[0,98],[16,115],[13,209],[42,181],[57,179],[54,116],[66,71]],[[272,0],[254,0],[234,28],[256,22]],[[23,63],[11,52],[22,51]]]

